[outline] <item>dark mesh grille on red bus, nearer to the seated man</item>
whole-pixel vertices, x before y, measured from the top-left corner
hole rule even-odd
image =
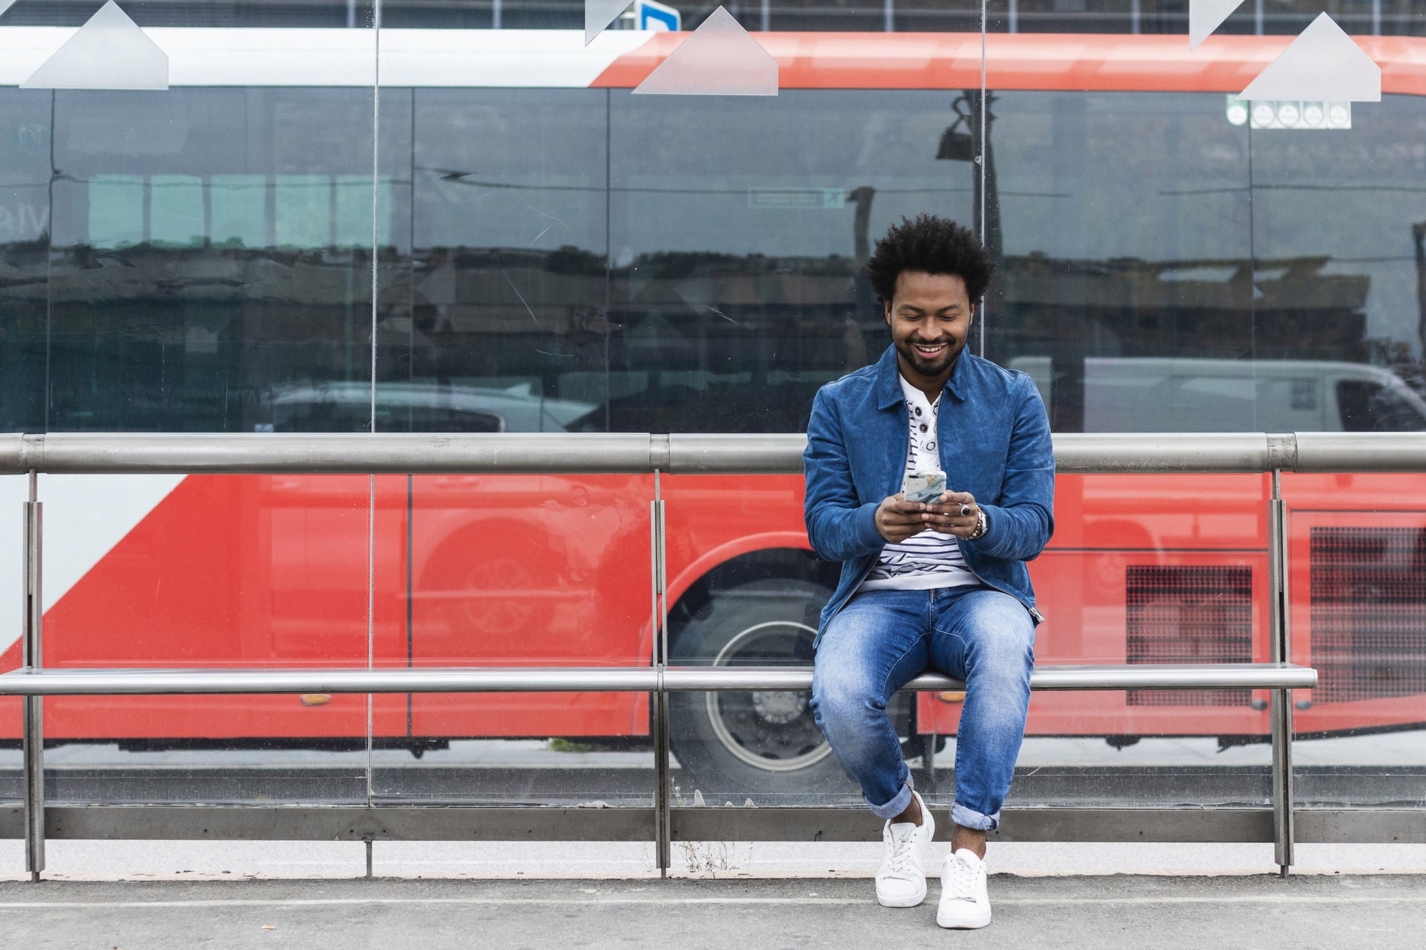
[[[1131,664],[1252,662],[1251,567],[1129,567]],[[1131,706],[1246,705],[1251,689],[1129,689]]]

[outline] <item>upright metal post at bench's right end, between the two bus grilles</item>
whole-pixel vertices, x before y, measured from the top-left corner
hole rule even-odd
[[[1268,501],[1268,584],[1272,662],[1288,662],[1292,638],[1288,618],[1288,527],[1282,501],[1282,471],[1272,470],[1272,499]],[[1272,837],[1278,873],[1292,867],[1292,691],[1272,691]]]

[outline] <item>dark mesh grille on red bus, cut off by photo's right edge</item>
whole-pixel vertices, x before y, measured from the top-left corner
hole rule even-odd
[[[1426,530],[1315,527],[1316,702],[1426,692]]]

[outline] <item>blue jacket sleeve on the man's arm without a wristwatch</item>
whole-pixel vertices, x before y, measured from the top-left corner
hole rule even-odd
[[[886,546],[876,521],[881,499],[866,504],[857,499],[841,419],[823,390],[817,390],[811,403],[803,474],[807,479],[803,516],[807,521],[807,540],[817,557],[824,561],[850,561],[876,554]]]

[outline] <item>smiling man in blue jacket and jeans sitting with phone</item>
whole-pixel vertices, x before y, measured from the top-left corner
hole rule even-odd
[[[813,712],[886,819],[877,900],[925,899],[935,822],[911,788],[887,699],[935,669],[965,681],[951,856],[935,922],[990,923],[985,832],[1025,732],[1035,610],[1025,561],[1054,530],[1050,423],[1034,383],[965,352],[991,261],[970,231],[920,215],[877,242],[867,275],[891,346],[819,390],[807,423],[807,536],[841,581],[817,631]],[[938,501],[904,473],[941,470]]]

